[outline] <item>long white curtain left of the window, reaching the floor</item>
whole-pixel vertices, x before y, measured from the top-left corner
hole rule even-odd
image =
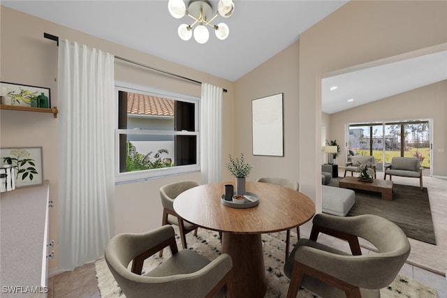
[[[59,43],[59,270],[94,262],[115,234],[111,54]]]

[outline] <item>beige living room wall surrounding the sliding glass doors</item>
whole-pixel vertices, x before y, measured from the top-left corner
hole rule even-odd
[[[402,119],[433,119],[433,175],[447,177],[447,81],[384,98],[330,115],[330,134],[344,140],[345,124]],[[346,147],[341,143],[340,162],[346,161]],[[441,149],[441,150],[439,150]],[[444,152],[440,152],[444,149]]]

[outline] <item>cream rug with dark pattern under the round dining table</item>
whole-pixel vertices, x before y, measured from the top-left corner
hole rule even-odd
[[[177,230],[176,230],[177,232]],[[221,243],[219,234],[214,231],[199,229],[197,237],[193,233],[186,234],[186,241],[189,249],[192,249],[201,255],[204,255],[209,260],[214,260],[220,254]],[[286,232],[278,232],[271,234],[263,234],[263,251],[266,277],[268,280],[268,290],[265,297],[280,298],[286,297],[289,279],[284,275],[284,246],[286,239]],[[291,233],[291,243],[296,243],[296,234]],[[179,237],[177,237],[177,245],[179,248]],[[163,260],[170,257],[169,249],[163,252],[163,258],[159,258],[158,254],[148,258],[143,265],[143,272],[150,271],[152,268],[159,265]],[[96,261],[96,278],[98,279],[98,289],[103,298],[124,298],[126,297],[119,288],[115,278],[113,278],[110,270],[105,263],[105,260]],[[305,289],[300,289],[298,297],[314,298],[318,297],[312,292]],[[433,288],[419,283],[412,278],[398,275],[395,281],[391,283],[388,288],[381,289],[381,297],[385,298],[434,298],[437,296],[437,291]]]

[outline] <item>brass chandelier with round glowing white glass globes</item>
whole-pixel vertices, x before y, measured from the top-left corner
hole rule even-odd
[[[235,4],[233,0],[219,0],[217,4],[217,13],[213,15],[211,3],[207,0],[191,0],[188,3],[188,10],[183,0],[169,0],[168,10],[170,15],[176,19],[182,18],[187,15],[193,18],[194,22],[191,25],[181,24],[178,29],[179,37],[182,40],[189,40],[194,35],[194,39],[198,43],[206,43],[210,38],[210,33],[205,25],[208,25],[214,29],[216,37],[223,40],[228,37],[230,29],[224,23],[217,25],[211,22],[220,15],[221,17],[230,17],[235,10]],[[194,28],[196,26],[196,28]],[[194,30],[193,30],[194,28]]]

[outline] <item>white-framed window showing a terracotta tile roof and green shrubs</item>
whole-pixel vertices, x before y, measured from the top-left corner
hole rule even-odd
[[[199,98],[117,83],[115,180],[200,170]]]

